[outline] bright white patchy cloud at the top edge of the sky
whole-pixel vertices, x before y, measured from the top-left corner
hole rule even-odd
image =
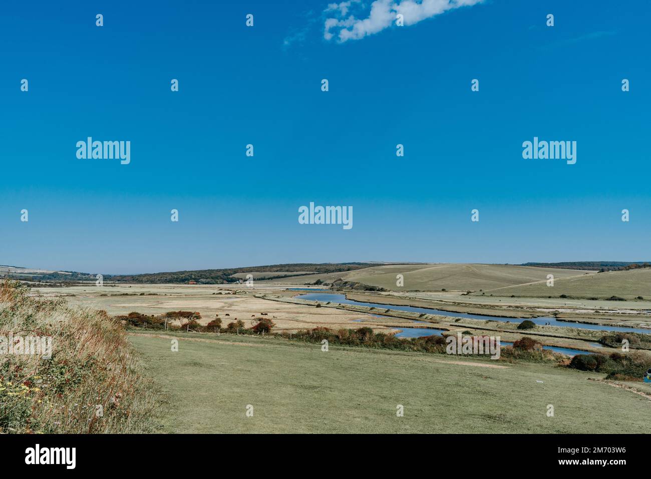
[[[454,8],[467,7],[483,0],[375,0],[370,5],[366,18],[357,18],[350,10],[365,10],[360,0],[331,3],[324,13],[324,38],[337,38],[338,42],[359,40],[367,35],[378,33],[395,24],[396,15],[402,14],[404,25],[413,25],[426,18],[442,14]],[[357,8],[359,7],[359,8]]]

